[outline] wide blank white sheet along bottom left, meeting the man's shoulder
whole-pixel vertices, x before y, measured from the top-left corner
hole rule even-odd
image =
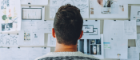
[[[50,52],[50,48],[0,48],[0,60],[35,60]]]

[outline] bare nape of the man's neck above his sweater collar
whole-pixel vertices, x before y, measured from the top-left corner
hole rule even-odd
[[[77,45],[65,45],[56,43],[55,52],[76,52]]]

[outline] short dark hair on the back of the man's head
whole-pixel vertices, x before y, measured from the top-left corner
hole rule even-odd
[[[76,45],[83,26],[80,10],[70,4],[61,6],[54,18],[54,30],[60,44]]]

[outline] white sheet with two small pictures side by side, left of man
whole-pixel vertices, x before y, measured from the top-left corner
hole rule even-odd
[[[44,46],[44,33],[20,32],[20,46]]]

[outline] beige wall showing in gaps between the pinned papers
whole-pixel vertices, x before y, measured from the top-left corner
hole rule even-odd
[[[131,12],[131,6],[132,5],[134,5],[134,4],[128,5],[129,6],[129,8],[128,8],[128,10],[129,10],[128,18],[117,19],[117,20],[128,20],[128,19],[130,19],[130,12]],[[22,6],[26,6],[26,5],[22,5]],[[138,6],[140,6],[140,4]],[[50,19],[49,18],[49,4],[47,6],[45,6],[45,20],[53,20],[53,19]],[[95,19],[94,18],[92,18],[92,19],[91,18],[88,18],[87,20],[95,20]],[[97,19],[97,20],[101,20],[101,27],[100,27],[101,28],[101,31],[100,31],[100,33],[103,34],[104,19]],[[114,19],[109,19],[109,20],[114,20]],[[137,33],[140,33],[140,26],[137,27]],[[45,46],[47,46],[47,35],[48,34],[45,34]],[[135,40],[129,40],[128,43],[129,43],[128,44],[129,46],[132,46],[132,47],[135,47],[136,46],[135,45]],[[55,48],[51,47],[51,51],[53,52],[54,50],[55,50]],[[104,59],[104,60],[119,60],[119,59]]]

